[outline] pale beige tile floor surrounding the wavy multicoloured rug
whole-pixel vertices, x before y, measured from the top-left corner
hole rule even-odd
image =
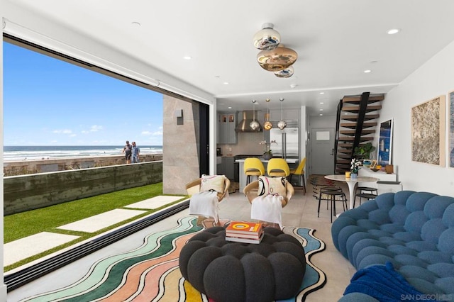
[[[350,283],[350,278],[355,273],[355,268],[346,260],[334,247],[331,239],[330,210],[326,210],[326,203],[322,203],[320,217],[317,218],[318,201],[313,196],[313,186],[308,181],[307,193],[296,190],[292,200],[282,211],[282,221],[284,225],[313,228],[315,235],[326,244],[326,250],[314,255],[311,260],[326,274],[326,284],[322,289],[310,293],[306,301],[338,301],[341,298],[345,287]],[[339,185],[336,183],[336,185]],[[341,187],[348,192],[348,188]],[[348,195],[348,194],[347,194]],[[340,203],[337,206],[342,209]],[[339,210],[338,210],[339,211]],[[342,210],[341,210],[342,211]],[[221,218],[232,220],[249,220],[250,204],[242,192],[236,191],[229,194],[228,198],[220,203]],[[177,225],[177,219],[188,215],[188,210],[184,210],[175,216],[155,223],[144,230],[128,236],[113,245],[92,253],[72,264],[57,269],[55,272],[47,274],[35,281],[30,282],[20,288],[8,293],[8,301],[21,301],[21,299],[32,296],[36,293],[60,289],[63,286],[74,283],[87,273],[94,262],[108,255],[118,252],[126,252],[139,247],[143,243],[143,238],[149,233],[165,230]],[[333,218],[336,219],[336,218]]]

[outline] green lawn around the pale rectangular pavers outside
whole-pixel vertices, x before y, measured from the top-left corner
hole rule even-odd
[[[140,216],[131,218],[130,220],[123,221],[116,225],[111,225],[109,228],[104,228],[99,230],[96,233],[84,233],[84,232],[74,232],[70,230],[60,230],[57,227],[65,225],[67,223],[72,223],[77,220],[88,218],[99,213],[104,213],[107,211],[114,210],[115,208],[123,208],[131,203],[138,201],[143,201],[154,196],[162,195],[162,183],[159,184],[150,184],[147,186],[139,186],[133,189],[126,189],[122,191],[116,191],[108,194],[102,194],[99,196],[93,196],[89,198],[79,199],[77,201],[69,201],[66,203],[60,203],[55,206],[48,206],[46,208],[39,208],[37,210],[27,211],[23,213],[17,213],[4,217],[4,242],[11,242],[13,240],[18,240],[23,237],[27,237],[40,232],[52,232],[52,233],[62,233],[80,236],[79,239],[68,242],[65,245],[60,245],[55,247],[52,250],[43,252],[40,255],[24,259],[21,262],[5,267],[5,271],[11,270],[13,268],[19,267],[23,264],[31,262],[35,259],[39,259],[45,255],[49,255],[52,252],[61,250],[62,248],[74,245],[74,243],[87,240],[89,237],[94,237],[101,233],[106,232],[123,225],[130,221],[136,220],[140,217],[150,215],[158,209],[153,209],[146,211]],[[186,196],[182,196],[185,198]],[[175,201],[177,203],[179,201]],[[170,203],[172,204],[172,203]],[[168,205],[167,205],[168,206]],[[143,209],[140,209],[144,211]]]

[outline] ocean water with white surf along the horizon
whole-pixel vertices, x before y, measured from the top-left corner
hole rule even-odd
[[[59,157],[94,157],[122,155],[123,145],[118,146],[4,146],[3,160],[47,160]],[[140,154],[162,153],[162,146],[138,146]]]

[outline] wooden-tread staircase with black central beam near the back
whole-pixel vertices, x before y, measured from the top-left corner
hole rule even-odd
[[[350,171],[355,147],[374,140],[383,99],[384,94],[364,92],[360,96],[344,96],[339,101],[334,163],[336,174]]]

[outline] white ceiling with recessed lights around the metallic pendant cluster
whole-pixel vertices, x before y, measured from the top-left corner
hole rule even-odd
[[[256,109],[265,99],[280,108],[284,98],[285,107],[333,116],[343,96],[387,93],[454,40],[452,0],[11,3],[212,94],[226,111],[251,110],[253,99]],[[288,79],[256,62],[253,35],[267,22],[299,54]]]

